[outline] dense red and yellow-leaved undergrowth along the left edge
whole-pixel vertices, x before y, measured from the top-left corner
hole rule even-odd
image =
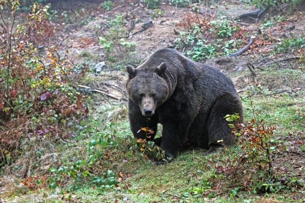
[[[2,3],[0,125],[5,131],[0,132],[1,169],[20,159],[19,148],[23,143],[32,147],[27,148],[32,153],[27,155],[28,159],[37,157],[36,142],[74,136],[70,128],[88,113],[83,95],[73,87],[84,76],[85,69],[79,75],[73,74],[69,50],[61,57],[54,45],[47,49],[45,58],[37,54],[36,42],[41,42],[53,29],[45,20],[47,9],[35,3],[28,16],[17,22],[19,1]],[[21,165],[15,169],[19,170]],[[27,169],[19,172],[23,177]]]

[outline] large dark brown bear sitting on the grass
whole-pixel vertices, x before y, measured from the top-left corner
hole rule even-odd
[[[242,121],[242,102],[232,81],[217,69],[165,48],[126,70],[131,130],[136,138],[144,139],[145,133],[139,130],[151,128],[154,134],[146,140],[153,140],[161,123],[162,137],[155,143],[165,150],[167,162],[186,144],[209,153],[236,142],[224,116],[239,113]]]

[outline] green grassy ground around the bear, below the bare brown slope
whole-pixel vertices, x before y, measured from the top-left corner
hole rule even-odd
[[[250,72],[244,70],[234,73],[230,77],[238,81],[249,77]],[[275,138],[287,142],[287,148],[300,147],[295,145],[295,141],[302,141],[304,144],[305,135],[290,139],[304,129],[305,117],[299,113],[305,112],[304,89],[291,91],[282,89],[281,85],[293,88],[291,84],[294,81],[302,81],[305,78],[304,71],[292,69],[275,69],[269,67],[258,74],[260,86],[252,84],[242,84],[238,86],[238,91],[244,103],[245,120],[249,121],[253,117],[253,108],[250,107],[250,97],[253,102],[254,112],[265,120],[267,125],[278,126],[275,131]],[[276,78],[278,81],[274,88],[266,88]],[[285,81],[285,82],[283,82]],[[240,83],[241,84],[241,83]],[[237,84],[239,85],[239,84]],[[278,90],[286,90],[283,93],[274,94]],[[268,95],[273,94],[273,95]],[[268,96],[266,96],[268,95]],[[101,96],[94,97],[94,100],[102,100]],[[115,114],[109,117],[110,112],[122,109],[121,114]],[[102,115],[102,116],[101,116]],[[105,120],[104,118],[108,119]],[[219,165],[225,165],[228,158],[233,159],[239,153],[239,147],[233,146],[224,149],[221,153],[203,156],[204,150],[193,149],[180,153],[179,157],[172,163],[155,166],[150,160],[142,157],[142,152],[135,150],[134,140],[129,131],[129,124],[126,117],[126,103],[113,100],[104,100],[100,105],[91,110],[90,118],[86,125],[88,128],[81,131],[75,138],[56,147],[59,154],[57,163],[52,163],[54,167],[61,164],[74,163],[77,160],[85,160],[89,154],[86,151],[88,142],[99,133],[108,133],[117,143],[108,143],[107,146],[97,147],[101,150],[103,156],[99,164],[95,167],[99,170],[97,174],[102,174],[110,169],[116,173],[120,183],[115,187],[97,187],[88,179],[79,181],[66,180],[65,184],[55,190],[47,188],[30,190],[26,186],[12,187],[13,191],[7,192],[2,197],[2,202],[16,203],[100,203],[100,202],[129,202],[129,203],[157,203],[157,202],[302,202],[303,188],[300,186],[294,189],[284,189],[271,194],[255,194],[252,192],[239,191],[231,177],[217,172]],[[294,144],[293,144],[294,143]],[[288,151],[287,149],[287,151]],[[276,152],[274,156],[275,168],[285,166],[290,168],[286,171],[289,177],[295,177],[297,180],[305,177],[304,166],[295,169],[293,164],[304,163],[304,153],[290,154],[292,160],[287,161],[287,152]],[[301,153],[301,152],[300,152]],[[300,159],[295,162],[295,159]],[[285,162],[283,162],[285,161]],[[278,165],[279,164],[279,165]],[[280,176],[280,172],[277,175]],[[245,173],[244,176],[247,174]],[[283,175],[283,174],[282,174]],[[73,190],[69,188],[73,187]],[[14,189],[15,188],[15,189]],[[16,189],[17,188],[17,189]],[[236,191],[236,194],[234,193]],[[21,195],[22,194],[22,195]],[[234,194],[234,195],[233,195]]]

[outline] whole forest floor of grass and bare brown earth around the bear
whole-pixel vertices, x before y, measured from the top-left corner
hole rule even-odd
[[[305,202],[305,40],[301,46],[285,45],[299,43],[296,41],[300,36],[305,39],[305,3],[298,9],[283,4],[269,9],[258,20],[241,21],[233,19],[255,7],[239,0],[195,3],[182,8],[163,3],[158,9],[147,9],[137,0],[115,0],[112,7],[106,11],[98,0],[52,3],[53,11],[68,16],[55,19],[54,14],[50,15],[55,24],[54,35],[45,39],[43,45],[48,47],[56,41],[60,54],[68,49],[76,68],[89,69],[81,85],[102,90],[108,96],[90,94],[90,113],[83,124],[86,129],[76,130],[75,138],[49,142],[40,157],[22,156],[9,166],[0,177],[0,203]],[[203,155],[203,149],[186,150],[173,162],[158,166],[135,150],[127,118],[124,65],[137,65],[165,47],[176,47],[193,57],[185,41],[179,46],[180,32],[191,32],[191,24],[198,22],[201,29],[206,29],[201,37],[215,42],[217,34],[209,31],[210,22],[223,17],[238,27],[236,34],[226,40],[240,43],[229,49],[243,48],[249,38],[253,43],[237,57],[228,57],[235,51],[225,54],[218,45],[220,48],[216,48],[213,57],[199,61],[231,78],[244,104],[245,121],[260,118],[265,126],[277,127],[273,139],[278,142],[272,163],[279,182],[259,179],[258,174],[250,174],[250,169],[233,167],[231,160],[238,156],[238,146],[208,156]],[[143,28],[149,20],[152,25]],[[100,37],[113,42],[111,51],[105,49]],[[120,39],[136,45],[128,48]],[[285,39],[296,40],[285,42]],[[95,65],[101,61],[106,66],[97,71]],[[249,66],[254,67],[253,73]],[[36,182],[39,177],[48,177],[52,168],[89,159],[88,143],[90,146],[101,134],[107,141],[105,146],[95,149],[102,151],[102,157],[94,173],[102,175],[112,170],[119,182],[115,186],[94,186],[91,181],[67,177],[56,189]],[[32,178],[26,178],[16,167],[24,162],[30,162],[25,174]],[[239,175],[232,171],[234,168]],[[270,186],[275,191],[270,192]]]

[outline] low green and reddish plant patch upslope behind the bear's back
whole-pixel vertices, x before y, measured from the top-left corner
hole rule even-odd
[[[180,32],[175,48],[185,51],[194,61],[230,55],[245,43],[244,31],[234,21],[224,17],[218,20],[200,19],[198,14],[189,13],[177,26],[186,31]],[[211,35],[217,38],[205,40]]]

